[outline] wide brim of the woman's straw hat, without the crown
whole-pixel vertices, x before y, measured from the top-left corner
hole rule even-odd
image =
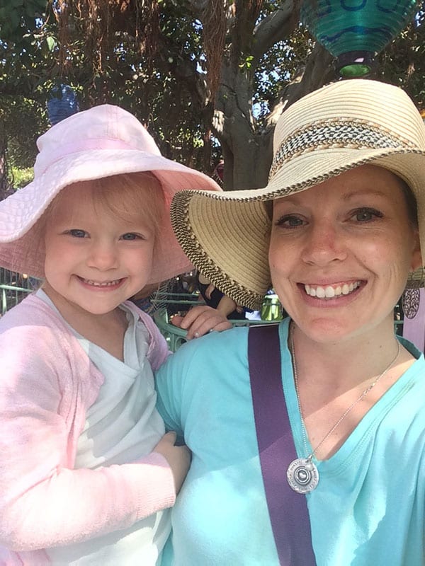
[[[179,192],[171,204],[171,223],[188,258],[212,284],[238,304],[259,308],[271,287],[271,221],[263,203],[365,164],[392,171],[412,188],[421,250],[425,250],[425,151],[406,148],[316,147],[285,163],[261,189]]]

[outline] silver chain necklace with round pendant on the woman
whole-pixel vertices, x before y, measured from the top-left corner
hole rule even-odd
[[[297,394],[297,403],[298,403],[298,410],[300,411],[301,417],[301,426],[302,426],[302,439],[304,441],[304,449],[307,453],[307,432],[305,430],[304,424],[304,417],[302,416],[302,409],[300,403],[300,394],[298,393],[298,375],[297,375],[297,362],[295,360],[295,348],[294,348],[294,332],[293,332],[293,325],[290,326],[290,352],[292,354],[293,359],[293,371],[294,371],[294,383],[295,383],[295,393]],[[382,371],[382,374],[378,376],[370,386],[366,387],[363,393],[353,402],[351,405],[346,409],[339,420],[336,421],[334,426],[329,430],[326,436],[317,444],[314,450],[307,456],[307,458],[295,458],[290,465],[288,466],[288,470],[286,470],[286,478],[288,479],[288,484],[290,485],[291,489],[296,491],[297,493],[308,493],[316,489],[317,484],[319,483],[319,470],[317,470],[316,464],[313,462],[314,454],[316,454],[317,450],[319,450],[320,446],[326,441],[334,432],[336,427],[339,427],[341,422],[345,419],[348,413],[360,403],[360,401],[368,395],[369,391],[371,391],[375,385],[382,379],[385,374],[392,368],[392,366],[397,361],[399,357],[399,353],[401,351],[400,343],[397,340],[397,354],[392,362]]]

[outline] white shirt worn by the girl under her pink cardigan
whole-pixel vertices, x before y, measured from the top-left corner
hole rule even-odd
[[[37,294],[57,311],[44,291],[40,289]],[[120,308],[128,319],[124,362],[70,327],[91,362],[105,376],[98,398],[87,411],[74,468],[95,469],[136,461],[149,454],[165,433],[164,422],[155,408],[157,394],[147,360],[147,329],[129,308]],[[137,521],[130,529],[48,548],[47,555],[58,566],[155,565],[169,531],[169,510],[165,510]]]

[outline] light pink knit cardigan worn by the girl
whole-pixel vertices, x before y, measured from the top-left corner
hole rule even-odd
[[[149,330],[147,357],[157,369],[166,341],[127,304]],[[0,318],[0,565],[45,565],[39,549],[125,529],[174,504],[173,475],[160,454],[73,469],[102,383],[76,337],[37,296]]]

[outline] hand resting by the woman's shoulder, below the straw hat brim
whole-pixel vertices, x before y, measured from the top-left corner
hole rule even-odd
[[[232,328],[229,320],[216,308],[210,306],[194,306],[185,316],[173,316],[171,323],[174,326],[187,330],[187,340],[198,338],[211,330],[228,330]]]

